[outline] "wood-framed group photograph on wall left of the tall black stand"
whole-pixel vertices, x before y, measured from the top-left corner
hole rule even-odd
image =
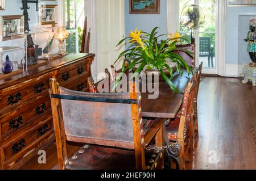
[[[12,15],[1,16],[0,18],[0,40],[10,40],[23,37],[24,35],[24,16]]]

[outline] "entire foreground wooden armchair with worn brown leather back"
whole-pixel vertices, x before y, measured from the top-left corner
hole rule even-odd
[[[134,82],[130,92],[110,94],[68,90],[56,79],[50,79],[50,87],[59,169],[113,169],[109,163],[115,169],[152,169],[150,163],[163,168],[163,151],[149,162],[145,155],[152,155],[146,148],[154,138],[156,146],[163,146],[164,120],[143,131],[141,94]],[[66,140],[93,145],[73,159],[68,158]]]

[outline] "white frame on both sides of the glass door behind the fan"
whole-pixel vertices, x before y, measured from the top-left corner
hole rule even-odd
[[[179,0],[167,0],[167,31],[175,32],[179,29]],[[207,73],[218,74],[225,76],[226,63],[225,63],[225,35],[226,35],[226,1],[218,1],[217,13],[217,26],[216,26],[216,69],[207,70]],[[172,20],[172,21],[171,21]],[[212,72],[211,72],[212,71]],[[216,72],[217,71],[217,72]],[[204,73],[204,70],[203,70]]]

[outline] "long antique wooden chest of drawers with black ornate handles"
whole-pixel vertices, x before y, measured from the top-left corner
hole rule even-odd
[[[0,77],[0,169],[18,169],[55,140],[49,78],[88,91],[94,54],[68,54],[28,70]]]

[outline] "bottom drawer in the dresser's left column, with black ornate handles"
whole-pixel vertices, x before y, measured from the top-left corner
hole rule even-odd
[[[15,140],[5,144],[1,144],[1,160],[2,164],[10,163],[16,159],[23,157],[33,149],[38,141],[50,136],[53,133],[52,117],[49,117],[46,121],[42,121],[34,129],[22,134]]]

